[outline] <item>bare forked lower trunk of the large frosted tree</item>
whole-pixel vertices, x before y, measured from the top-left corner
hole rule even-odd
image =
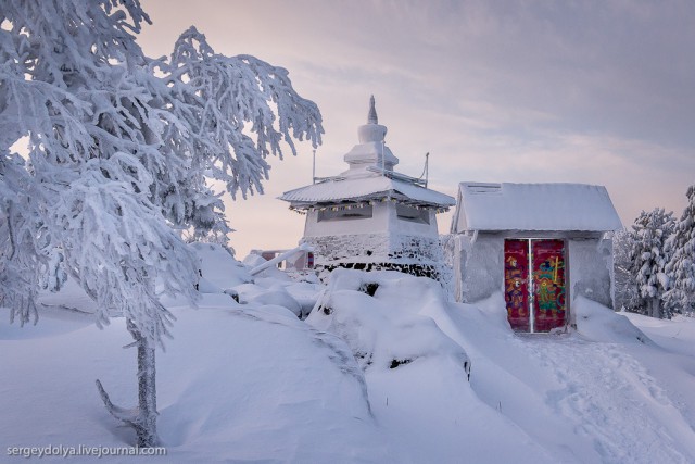
[[[138,407],[136,410],[118,407],[111,402],[99,380],[97,380],[97,388],[111,415],[135,429],[138,447],[156,447],[160,440],[156,435],[155,347],[140,334],[131,321],[126,321],[126,325],[138,349]]]

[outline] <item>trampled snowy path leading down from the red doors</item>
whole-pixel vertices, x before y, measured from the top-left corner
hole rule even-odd
[[[576,434],[591,439],[604,462],[691,462],[693,454],[684,455],[682,448],[692,444],[681,439],[693,440],[695,435],[690,430],[690,437],[679,437],[686,430],[678,409],[623,347],[579,336],[521,341],[519,346],[561,386],[546,392],[547,405],[571,421]],[[668,415],[673,417],[667,428]]]

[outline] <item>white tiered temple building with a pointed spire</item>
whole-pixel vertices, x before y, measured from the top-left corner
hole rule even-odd
[[[306,214],[303,243],[314,248],[317,271],[395,269],[438,277],[443,266],[435,214],[455,200],[427,180],[393,171],[374,97],[359,143],[344,155],[348,170],[285,192],[290,209]]]

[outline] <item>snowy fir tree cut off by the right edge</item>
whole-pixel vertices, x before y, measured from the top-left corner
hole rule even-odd
[[[683,313],[695,312],[695,185],[687,189],[687,205],[677,222],[668,246],[666,266],[673,280],[666,299]]]

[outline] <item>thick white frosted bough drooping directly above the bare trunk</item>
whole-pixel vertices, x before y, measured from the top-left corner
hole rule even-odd
[[[198,263],[148,201],[150,180],[131,155],[92,160],[60,192],[49,222],[72,276],[97,301],[99,322],[123,315],[159,342],[173,319],[160,296],[194,300]]]

